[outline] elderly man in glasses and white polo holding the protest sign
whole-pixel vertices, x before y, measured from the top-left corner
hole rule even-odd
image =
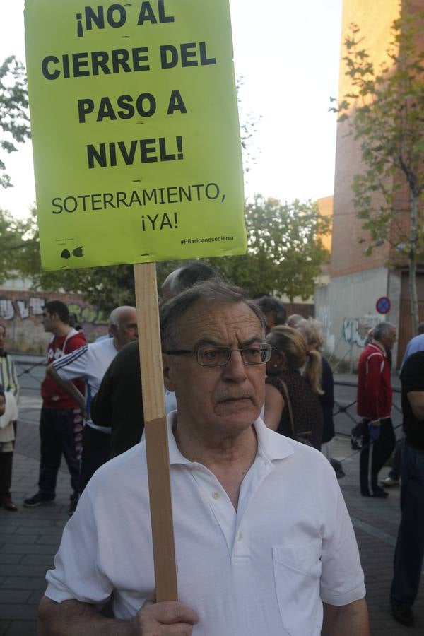
[[[102,466],[64,530],[42,636],[368,636],[333,469],[266,428],[264,319],[207,281],[162,307],[179,601],[154,602],[143,442]],[[115,618],[96,606],[113,598]],[[324,615],[324,625],[322,625]]]

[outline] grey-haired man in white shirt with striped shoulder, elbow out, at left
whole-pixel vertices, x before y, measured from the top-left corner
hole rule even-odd
[[[114,309],[110,314],[109,331],[112,338],[88,344],[47,368],[49,377],[76,400],[86,418],[83,431],[80,492],[86,487],[98,467],[109,459],[110,428],[93,423],[90,419],[90,404],[115,355],[126,344],[138,338],[137,315],[134,307],[122,305]],[[70,382],[77,377],[86,380],[85,398]]]

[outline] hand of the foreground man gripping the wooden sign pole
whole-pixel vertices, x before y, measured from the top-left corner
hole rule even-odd
[[[137,636],[190,636],[199,617],[183,603],[147,600],[131,623]]]

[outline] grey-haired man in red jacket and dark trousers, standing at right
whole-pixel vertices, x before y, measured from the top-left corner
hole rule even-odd
[[[387,497],[377,485],[378,473],[396,442],[391,423],[391,369],[387,351],[396,342],[396,327],[379,323],[358,363],[358,416],[363,418],[363,449],[360,452],[360,493],[364,497]]]

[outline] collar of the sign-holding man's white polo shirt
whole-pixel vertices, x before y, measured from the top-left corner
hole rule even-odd
[[[177,442],[172,433],[172,428],[175,426],[177,420],[177,411],[171,411],[167,416],[167,429],[168,429],[168,445],[170,451],[170,465],[172,464],[192,464],[193,462],[184,457],[179,452]],[[284,459],[293,454],[293,446],[284,435],[279,435],[273,430],[266,427],[261,418],[253,423],[258,440],[257,454],[268,461],[274,459]]]

